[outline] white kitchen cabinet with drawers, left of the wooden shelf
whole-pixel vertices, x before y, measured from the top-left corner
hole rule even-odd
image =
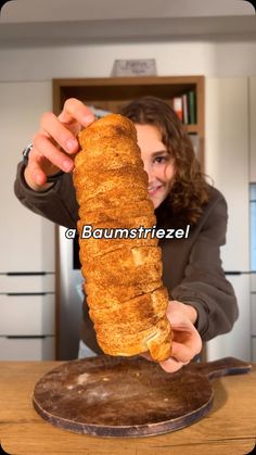
[[[51,97],[50,81],[0,84],[0,359],[55,356],[55,227],[13,191],[22,150]]]

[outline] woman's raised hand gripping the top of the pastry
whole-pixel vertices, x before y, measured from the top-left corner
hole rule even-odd
[[[66,100],[62,113],[56,117],[52,112],[41,116],[40,129],[35,135],[33,149],[25,169],[25,179],[35,190],[40,191],[47,184],[48,175],[74,167],[74,154],[79,144],[76,136],[82,127],[90,125],[94,115],[79,100]]]

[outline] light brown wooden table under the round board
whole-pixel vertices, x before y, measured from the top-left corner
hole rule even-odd
[[[149,438],[75,434],[44,421],[31,404],[36,382],[60,362],[0,362],[0,442],[11,455],[244,455],[256,439],[256,365],[213,381],[210,413],[179,431]]]

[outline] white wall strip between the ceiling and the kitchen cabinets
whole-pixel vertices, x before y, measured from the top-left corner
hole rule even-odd
[[[0,50],[0,81],[108,77],[115,59],[156,59],[159,76],[256,75],[256,40],[106,43]]]

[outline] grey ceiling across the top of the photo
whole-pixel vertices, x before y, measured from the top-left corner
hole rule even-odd
[[[159,39],[256,38],[246,0],[12,0],[0,17],[0,47]]]

